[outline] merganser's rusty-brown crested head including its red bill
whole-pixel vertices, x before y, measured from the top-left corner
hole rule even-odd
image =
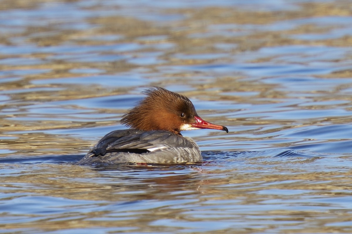
[[[228,132],[224,126],[202,120],[193,103],[184,95],[161,87],[152,87],[142,93],[146,97],[128,109],[122,116],[122,124],[139,130],[165,130],[179,135],[183,130],[201,128]]]

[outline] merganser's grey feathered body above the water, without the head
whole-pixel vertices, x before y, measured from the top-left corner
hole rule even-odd
[[[76,164],[187,163],[201,161],[193,139],[169,131],[117,130],[105,135]]]

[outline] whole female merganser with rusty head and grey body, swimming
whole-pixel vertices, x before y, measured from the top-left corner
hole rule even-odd
[[[196,142],[180,131],[227,127],[202,120],[193,103],[161,87],[146,89],[145,99],[129,109],[121,123],[131,127],[105,135],[76,164],[187,163],[202,161]]]

